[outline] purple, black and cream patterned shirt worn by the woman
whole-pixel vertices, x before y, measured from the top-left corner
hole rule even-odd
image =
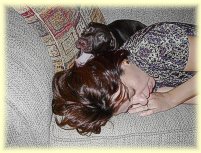
[[[183,71],[189,54],[187,36],[194,35],[194,25],[160,22],[136,32],[121,49],[129,50],[128,59],[154,77],[155,89],[175,87],[195,74]]]

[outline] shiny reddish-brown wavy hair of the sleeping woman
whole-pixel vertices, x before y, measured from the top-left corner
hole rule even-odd
[[[120,89],[115,101],[122,100],[121,63],[129,55],[118,50],[99,55],[83,67],[73,66],[53,78],[53,113],[63,116],[57,124],[69,125],[80,134],[100,133],[101,126],[117,111],[112,96]]]

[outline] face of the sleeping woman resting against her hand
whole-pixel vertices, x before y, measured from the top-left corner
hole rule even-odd
[[[122,62],[121,68],[124,73],[120,78],[122,83],[128,88],[129,99],[121,104],[115,114],[127,112],[132,105],[146,105],[147,99],[155,86],[155,81],[152,77],[139,69],[135,64],[129,63],[128,60]]]

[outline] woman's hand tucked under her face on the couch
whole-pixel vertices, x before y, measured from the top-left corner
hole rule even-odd
[[[175,106],[171,103],[171,97],[168,92],[154,92],[150,94],[147,105],[133,105],[128,112],[139,113],[140,116],[148,116],[173,107]]]

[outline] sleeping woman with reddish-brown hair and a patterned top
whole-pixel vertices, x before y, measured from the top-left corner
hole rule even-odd
[[[53,113],[60,127],[100,133],[114,115],[151,115],[196,102],[195,26],[163,22],[135,33],[113,50],[58,72]]]

